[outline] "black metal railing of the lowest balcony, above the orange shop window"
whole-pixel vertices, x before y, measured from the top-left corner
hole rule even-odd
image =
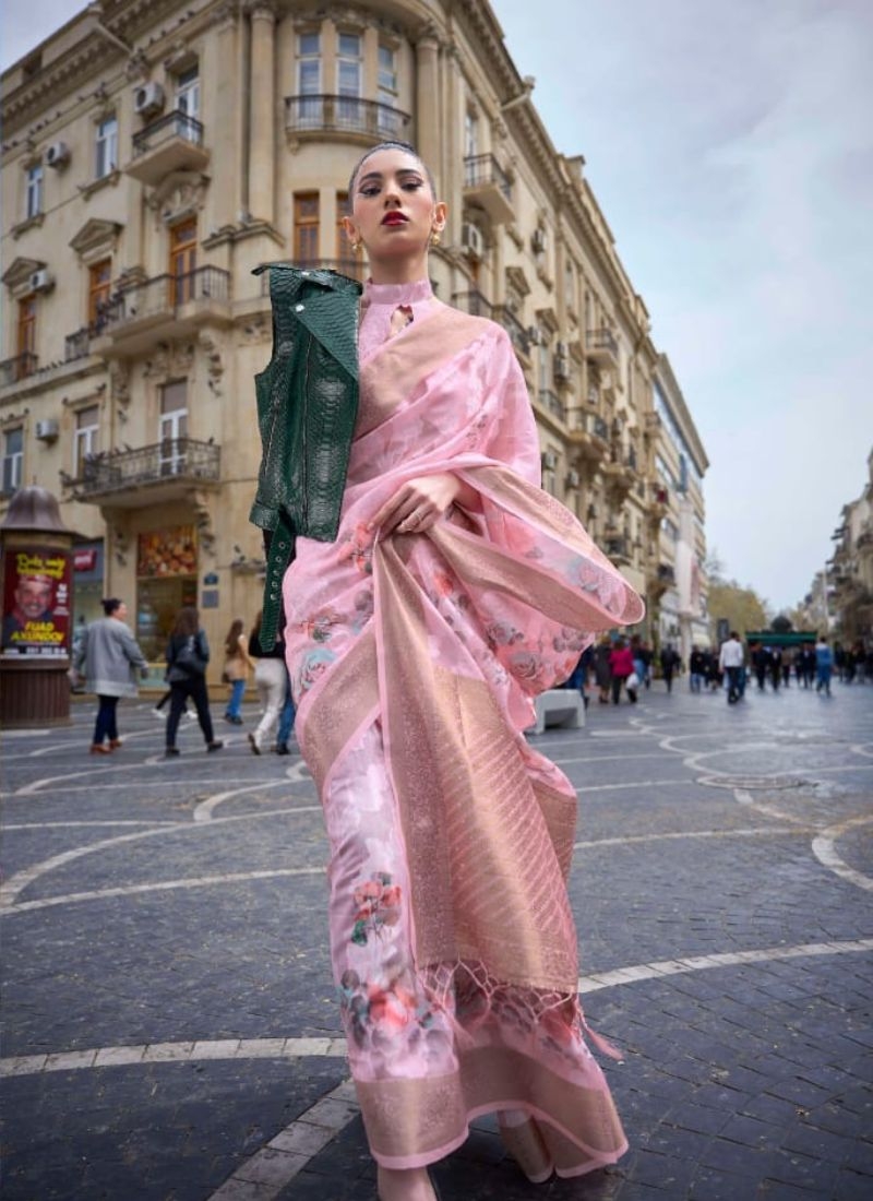
[[[133,450],[88,455],[73,484],[79,496],[103,496],[178,478],[217,483],[220,468],[221,447],[215,443],[167,438]]]

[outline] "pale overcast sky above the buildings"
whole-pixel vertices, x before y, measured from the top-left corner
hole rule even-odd
[[[2,66],[82,7],[4,5]],[[494,8],[704,440],[710,546],[795,604],[873,446],[873,0]]]

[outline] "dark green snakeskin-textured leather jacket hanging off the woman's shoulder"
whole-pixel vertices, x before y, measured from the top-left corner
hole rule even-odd
[[[250,520],[264,531],[261,644],[271,650],[298,534],[333,542],[358,416],[361,286],[336,271],[271,264],[273,358],[255,377],[263,456]]]

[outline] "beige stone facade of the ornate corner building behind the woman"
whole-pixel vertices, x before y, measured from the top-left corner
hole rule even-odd
[[[676,570],[662,526],[684,528],[686,502],[674,485],[659,500],[659,460],[682,477],[656,378],[693,467],[699,563],[706,458],[584,160],[555,150],[488,4],[106,0],[2,85],[2,489],[60,495],[89,564],[82,617],[100,594],[132,600],[155,658],[184,602],[214,641],[253,617],[252,377],[270,317],[252,270],[365,271],[340,229],[348,175],[401,137],[449,204],[437,294],[509,330],[544,486],[654,602],[660,632]],[[693,626],[694,604],[677,605]]]

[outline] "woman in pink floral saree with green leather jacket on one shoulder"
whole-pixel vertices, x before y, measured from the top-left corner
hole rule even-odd
[[[507,333],[433,297],[427,247],[446,207],[429,169],[382,143],[348,195],[346,231],[371,271],[360,305],[358,285],[333,273],[270,268],[276,341],[258,377],[252,509],[271,530],[261,644],[283,574],[297,735],[325,814],[331,960],[378,1195],[431,1201],[426,1165],[477,1113],[498,1112],[534,1179],[614,1163],[627,1146],[579,1016],[563,876],[575,795],[532,763],[520,731],[585,631],[644,609],[540,490]]]

